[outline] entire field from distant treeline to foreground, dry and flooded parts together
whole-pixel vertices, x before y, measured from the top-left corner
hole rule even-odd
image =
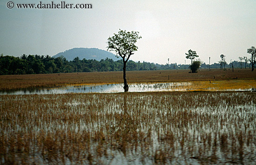
[[[249,70],[0,76],[0,165],[255,165]],[[106,90],[105,90],[106,89]]]

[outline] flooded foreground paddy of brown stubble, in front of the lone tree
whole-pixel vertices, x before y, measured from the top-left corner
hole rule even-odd
[[[0,95],[0,164],[253,165],[255,98],[255,92]]]

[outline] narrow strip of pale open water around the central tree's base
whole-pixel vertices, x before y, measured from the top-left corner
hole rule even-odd
[[[183,91],[191,83],[130,83],[129,92],[156,92],[156,91]],[[66,94],[66,93],[120,93],[123,92],[123,83],[67,85],[57,88],[18,90],[0,92],[0,95],[41,95],[41,94]]]

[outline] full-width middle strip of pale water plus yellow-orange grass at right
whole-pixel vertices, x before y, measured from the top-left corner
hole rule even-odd
[[[129,92],[160,91],[249,91],[256,87],[254,80],[240,81],[200,81],[168,83],[129,83]],[[55,88],[33,88],[1,92],[0,95],[41,95],[67,93],[120,93],[123,83],[69,84]]]

